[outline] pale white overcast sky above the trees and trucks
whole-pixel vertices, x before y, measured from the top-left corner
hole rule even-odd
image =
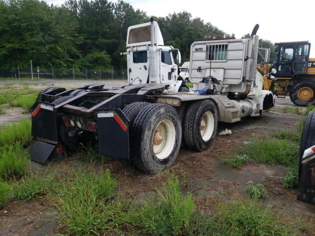
[[[113,2],[117,0],[112,0]],[[166,16],[188,11],[192,17],[211,22],[237,38],[251,33],[272,42],[310,41],[311,57],[315,57],[314,0],[125,0],[148,16]],[[62,4],[63,0],[46,0]]]

